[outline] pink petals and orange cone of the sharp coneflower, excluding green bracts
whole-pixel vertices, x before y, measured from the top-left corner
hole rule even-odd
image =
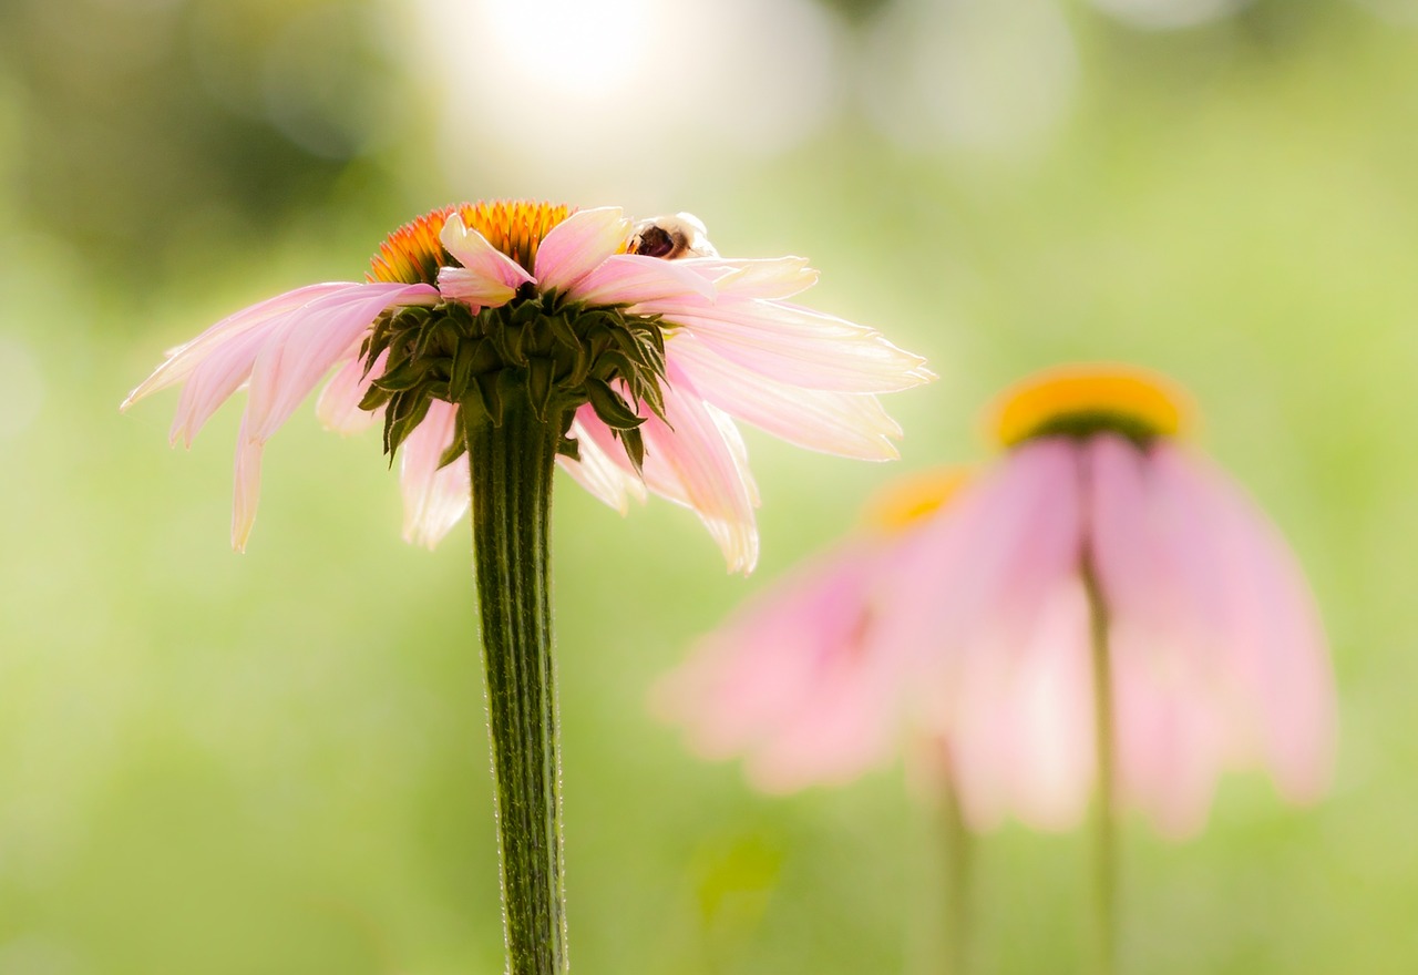
[[[391,234],[366,282],[311,285],[223,319],[167,360],[123,401],[182,384],[172,439],[193,436],[235,390],[248,388],[237,438],[231,540],[244,548],[255,519],[261,451],[333,370],[318,402],[342,432],[374,422],[362,400],[384,370],[364,361],[376,322],[410,306],[459,302],[474,313],[552,299],[571,317],[605,309],[658,323],[664,337],[662,415],[624,384],[644,418],[637,469],[587,402],[567,435],[579,459],[559,458],[587,490],[627,510],[645,489],[692,509],[730,570],[757,560],[759,497],[733,418],[817,451],[895,456],[900,434],[876,400],[932,378],[923,360],[878,332],[786,299],[810,288],[800,258],[720,258],[693,218],[632,224],[620,208],[496,201],[448,207]],[[584,397],[583,397],[584,401]],[[468,509],[465,463],[445,463],[458,408],[434,400],[400,456],[404,537],[434,546]]]

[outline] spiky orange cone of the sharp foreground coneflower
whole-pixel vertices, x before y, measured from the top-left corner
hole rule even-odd
[[[442,207],[408,221],[386,237],[379,245],[379,254],[370,259],[366,278],[410,285],[437,283],[438,268],[452,264],[438,234],[454,211],[462,215],[464,225],[486,237],[492,247],[529,272],[542,239],[571,215],[571,207],[566,204],[532,200],[492,200]]]

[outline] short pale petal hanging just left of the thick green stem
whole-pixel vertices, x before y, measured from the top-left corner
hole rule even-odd
[[[438,466],[452,445],[457,417],[457,407],[434,400],[428,415],[400,446],[404,541],[432,548],[468,510],[472,489],[467,458]]]

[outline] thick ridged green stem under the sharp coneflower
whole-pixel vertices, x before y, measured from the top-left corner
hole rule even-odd
[[[560,424],[526,395],[501,424],[464,408],[472,548],[488,675],[508,975],[567,971],[560,743],[552,660],[547,530]]]

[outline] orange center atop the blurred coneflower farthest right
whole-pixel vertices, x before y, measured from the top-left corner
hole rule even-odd
[[[1187,394],[1157,373],[1133,366],[1064,366],[1007,390],[993,411],[991,432],[1003,446],[1099,431],[1150,441],[1180,434],[1190,419]]]

